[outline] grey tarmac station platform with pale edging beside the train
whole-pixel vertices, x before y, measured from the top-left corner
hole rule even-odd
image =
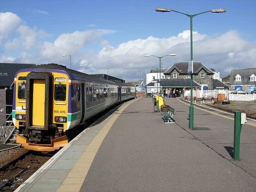
[[[49,159],[16,191],[255,191],[256,123],[241,130],[234,161],[234,117],[167,98],[175,123],[152,98],[126,102]]]

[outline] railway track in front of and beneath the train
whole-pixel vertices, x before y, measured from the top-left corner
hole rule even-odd
[[[106,111],[99,113],[98,116],[87,120],[87,122],[83,125],[77,126],[77,128],[74,129],[72,133],[69,133],[70,140],[76,137],[79,133],[81,133],[81,131],[86,129],[92,123],[97,121],[99,117],[104,116],[106,112],[111,111],[116,106],[117,105],[112,106]],[[42,165],[44,165],[44,163],[47,162],[49,158],[51,158],[54,154],[56,154],[56,152],[58,152],[38,152],[29,150],[23,151],[24,149],[22,150],[22,148],[15,148],[12,150],[14,150],[12,154],[17,153],[19,155],[17,155],[17,157],[13,158],[12,160],[6,159],[7,162],[3,163],[2,165],[0,163],[0,191],[16,190],[17,187],[19,187],[25,180],[33,175],[33,173],[37,171]],[[23,151],[23,153],[21,153],[20,151],[18,153],[17,150]],[[4,152],[8,153],[8,150]],[[6,157],[8,156],[9,155],[7,155]],[[1,157],[0,155],[0,158],[5,157]]]

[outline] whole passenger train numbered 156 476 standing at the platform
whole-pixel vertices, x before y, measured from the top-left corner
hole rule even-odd
[[[69,142],[67,132],[133,98],[132,84],[99,79],[55,63],[19,70],[12,105],[16,143],[34,151],[58,150]]]

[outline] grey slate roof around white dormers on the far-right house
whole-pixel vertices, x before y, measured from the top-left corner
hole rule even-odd
[[[235,81],[237,74],[240,74],[242,77],[241,81]],[[229,84],[255,84],[255,81],[250,81],[250,76],[252,74],[256,75],[256,68],[254,69],[233,69],[231,70]]]

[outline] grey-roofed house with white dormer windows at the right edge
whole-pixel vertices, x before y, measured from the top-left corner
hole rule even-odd
[[[256,68],[254,69],[233,69],[229,80],[230,90],[256,90]]]

